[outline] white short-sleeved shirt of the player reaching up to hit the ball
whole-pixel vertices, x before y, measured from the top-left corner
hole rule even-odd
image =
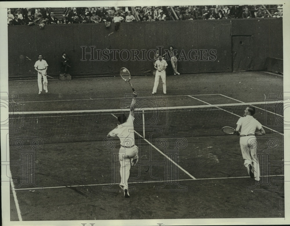
[[[118,125],[118,127],[113,129],[109,135],[118,136],[120,138],[120,144],[123,146],[131,147],[135,145],[133,121],[134,117],[129,114],[127,121],[121,125]]]

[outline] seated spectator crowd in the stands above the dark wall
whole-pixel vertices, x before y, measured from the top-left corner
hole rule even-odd
[[[50,8],[10,8],[8,25],[110,23],[166,20],[281,18],[283,5],[145,6],[62,8],[56,17]]]

